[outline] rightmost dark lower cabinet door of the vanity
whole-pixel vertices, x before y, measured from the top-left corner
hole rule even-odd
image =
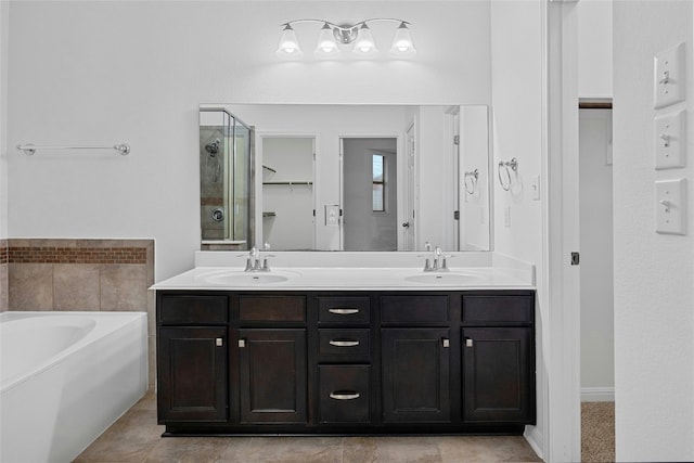
[[[463,421],[532,423],[535,369],[529,327],[465,327]]]

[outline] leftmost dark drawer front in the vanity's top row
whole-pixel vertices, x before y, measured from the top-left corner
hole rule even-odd
[[[227,296],[164,295],[159,298],[160,324],[224,324],[229,320]]]

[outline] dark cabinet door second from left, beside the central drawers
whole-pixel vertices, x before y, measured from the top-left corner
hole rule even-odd
[[[241,422],[306,423],[306,330],[240,330]]]

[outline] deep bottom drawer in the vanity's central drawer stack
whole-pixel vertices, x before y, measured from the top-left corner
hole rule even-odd
[[[369,365],[319,365],[320,422],[368,423],[370,419]]]

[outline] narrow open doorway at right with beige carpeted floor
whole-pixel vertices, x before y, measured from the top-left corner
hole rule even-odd
[[[579,107],[581,460],[614,461],[612,105]]]

